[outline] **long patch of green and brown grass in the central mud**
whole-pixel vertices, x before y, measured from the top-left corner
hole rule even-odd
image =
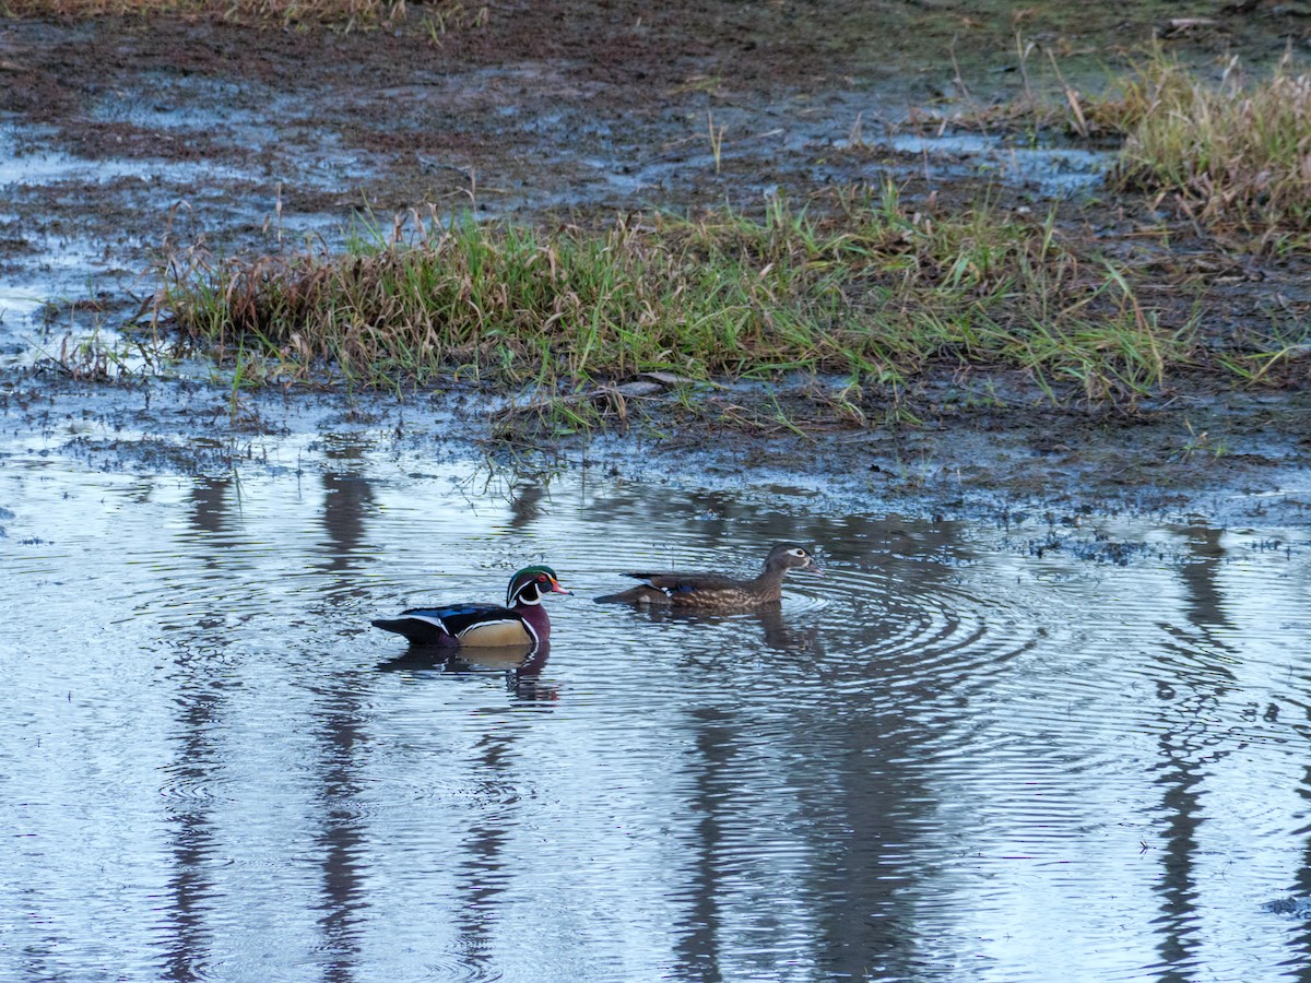
[[[943,368],[1028,372],[1054,400],[1131,406],[1196,353],[1192,308],[1143,309],[1126,269],[987,206],[918,214],[890,186],[821,214],[646,214],[606,229],[412,222],[341,256],[169,265],[159,318],[262,377],[577,392],[846,375],[897,391]]]

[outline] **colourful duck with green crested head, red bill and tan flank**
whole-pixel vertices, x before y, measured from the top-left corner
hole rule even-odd
[[[409,608],[400,617],[374,621],[374,626],[404,634],[414,645],[538,645],[551,637],[551,617],[541,607],[541,598],[547,594],[573,591],[560,586],[556,571],[549,566],[526,566],[510,578],[503,608],[494,604]]]

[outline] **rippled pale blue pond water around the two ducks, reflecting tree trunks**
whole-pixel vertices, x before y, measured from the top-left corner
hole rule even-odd
[[[1306,530],[501,478],[364,436],[0,457],[7,979],[1272,979],[1311,935]],[[144,472],[144,468],[142,469]],[[771,615],[631,568],[826,575]],[[368,626],[545,560],[527,667]]]

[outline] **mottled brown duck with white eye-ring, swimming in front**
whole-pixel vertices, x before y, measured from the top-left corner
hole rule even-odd
[[[738,581],[714,573],[631,573],[641,587],[597,598],[598,604],[661,604],[676,608],[725,611],[777,604],[783,598],[783,578],[789,570],[804,570],[822,577],[819,565],[805,547],[780,543],[764,558],[764,571],[754,581]]]

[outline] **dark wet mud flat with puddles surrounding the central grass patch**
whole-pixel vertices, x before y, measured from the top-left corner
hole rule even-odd
[[[1205,13],[1181,31],[1168,28],[1189,14],[1177,4],[1078,16],[1017,4],[522,4],[444,33],[423,7],[368,33],[7,21],[0,425],[108,468],[253,467],[261,444],[326,427],[438,457],[801,488],[924,514],[1304,522],[1304,385],[1192,380],[1120,414],[1076,398],[1053,409],[1019,376],[957,376],[874,406],[856,427],[814,398],[838,380],[789,379],[644,396],[590,439],[506,442],[505,396],[455,385],[402,398],[250,393],[205,364],[118,385],[66,371],[71,345],[111,334],[149,299],[149,271],[172,249],[278,252],[307,237],[333,248],[429,207],[532,222],[751,211],[772,194],[805,201],[884,180],[910,199],[1058,202],[1063,222],[1095,229],[1112,254],[1196,269],[1224,322],[1260,334],[1272,303],[1311,309],[1297,257],[1214,257],[1183,222],[1169,256],[1142,256],[1134,210],[1151,203],[1108,195],[1101,149],[910,125],[944,101],[1013,97],[1017,34],[1092,85],[1152,37],[1197,63],[1261,64],[1304,50],[1311,31],[1291,8]]]

